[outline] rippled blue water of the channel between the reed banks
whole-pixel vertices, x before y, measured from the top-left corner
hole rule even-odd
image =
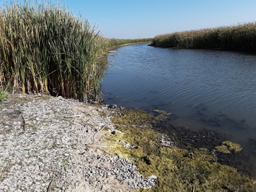
[[[165,110],[189,129],[218,130],[239,143],[256,165],[256,55],[147,44],[115,51],[109,63],[122,69],[107,70],[106,104]]]

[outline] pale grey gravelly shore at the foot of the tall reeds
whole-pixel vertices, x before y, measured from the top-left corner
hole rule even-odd
[[[155,175],[143,177],[129,158],[106,149],[111,113],[62,97],[9,95],[0,106],[0,191],[152,188]]]

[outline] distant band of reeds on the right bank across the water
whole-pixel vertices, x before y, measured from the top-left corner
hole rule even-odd
[[[154,46],[187,48],[256,49],[256,22],[157,35]]]

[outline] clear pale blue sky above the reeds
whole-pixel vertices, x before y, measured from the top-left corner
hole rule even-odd
[[[39,1],[41,0],[37,0]],[[23,1],[18,0],[18,2]],[[104,29],[103,35],[108,38],[147,38],[174,31],[256,21],[256,0],[63,0],[60,2],[69,6],[75,15],[81,11],[82,17],[98,24],[98,29]]]

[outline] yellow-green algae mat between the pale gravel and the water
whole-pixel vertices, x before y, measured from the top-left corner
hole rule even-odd
[[[238,173],[234,167],[217,163],[206,148],[180,149],[162,146],[161,134],[153,129],[158,116],[140,110],[124,110],[122,115],[111,114],[115,133],[106,135],[107,149],[131,158],[144,177],[152,174],[158,180],[153,189],[139,191],[255,191],[254,180]],[[142,127],[143,125],[144,127]],[[125,148],[130,143],[137,148]],[[222,143],[229,150],[238,146]],[[191,158],[188,154],[193,153]]]

